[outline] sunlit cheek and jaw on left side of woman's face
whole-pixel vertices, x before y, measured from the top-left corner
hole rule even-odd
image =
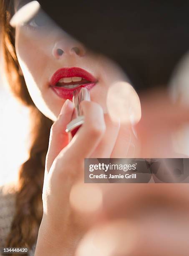
[[[61,106],[52,104],[48,87],[48,49],[41,46],[48,45],[43,40],[31,39],[23,29],[16,30],[15,48],[18,62],[23,72],[23,76],[28,88],[28,92],[35,106],[51,120],[56,119],[56,115]]]

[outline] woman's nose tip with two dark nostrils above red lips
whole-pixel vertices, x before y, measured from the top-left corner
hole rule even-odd
[[[85,47],[75,41],[75,40],[69,40],[69,41],[58,41],[55,43],[53,47],[53,56],[56,59],[60,59],[63,56],[66,55],[75,55],[75,56],[84,56],[86,54],[86,49]]]

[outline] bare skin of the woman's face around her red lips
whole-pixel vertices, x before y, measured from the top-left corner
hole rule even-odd
[[[18,4],[19,1],[16,1],[15,10]],[[77,54],[74,47],[78,47],[81,54]],[[64,51],[62,56],[57,56],[58,48]],[[50,18],[44,26],[35,27],[35,20],[26,26],[17,26],[15,49],[35,105],[53,121],[57,119],[65,99],[53,92],[49,82],[61,67],[80,67],[98,80],[90,91],[91,100],[100,104],[104,113],[107,112],[105,99],[108,88],[114,82],[127,81],[124,72],[113,61],[100,54],[93,54],[56,26]]]

